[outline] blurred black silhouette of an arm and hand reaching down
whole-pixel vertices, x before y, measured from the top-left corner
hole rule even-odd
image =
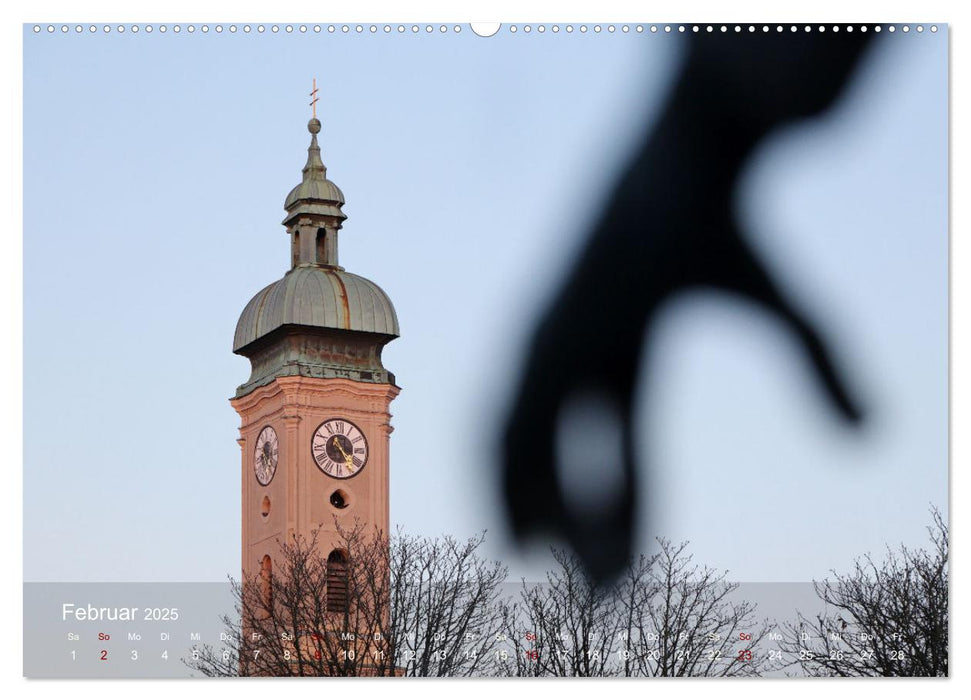
[[[563,538],[600,583],[622,571],[633,546],[631,416],[641,345],[678,292],[738,295],[773,314],[798,339],[833,410],[849,423],[861,418],[820,333],[746,242],[734,204],[759,142],[829,108],[873,29],[756,29],[686,38],[687,56],[658,122],[535,330],[507,418],[502,487],[514,536]],[[623,487],[596,516],[570,511],[556,473],[558,415],[586,394],[612,405],[623,434]]]

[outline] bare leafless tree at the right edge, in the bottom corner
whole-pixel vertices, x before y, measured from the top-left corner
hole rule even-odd
[[[931,508],[930,547],[887,548],[816,582],[826,612],[784,627],[782,650],[808,675],[947,676],[948,528]]]

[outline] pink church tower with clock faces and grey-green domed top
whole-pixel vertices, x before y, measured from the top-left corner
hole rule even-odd
[[[338,264],[344,195],[327,179],[316,117],[303,180],[287,195],[290,270],[243,309],[233,352],[252,373],[231,404],[240,416],[243,575],[272,573],[277,542],[319,529],[343,561],[337,522],[388,534],[394,375],[381,350],[398,336],[387,295]]]

